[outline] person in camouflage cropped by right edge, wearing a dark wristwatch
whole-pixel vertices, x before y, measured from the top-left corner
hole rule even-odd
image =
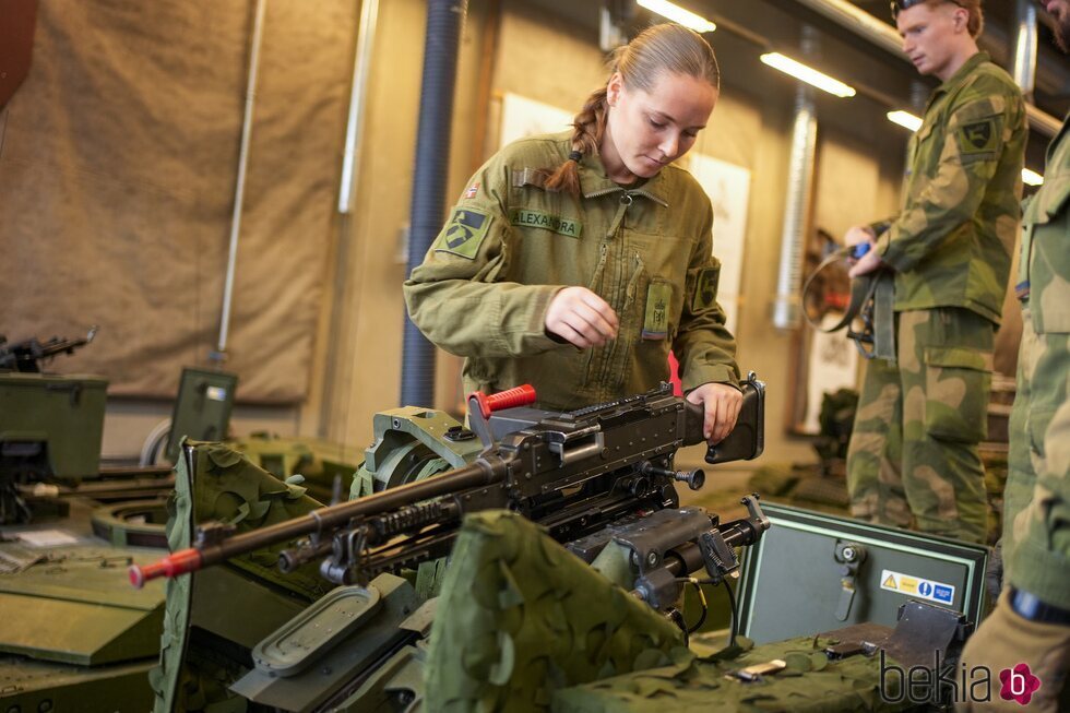
[[[1070,52],[1070,0],[1042,0]],[[1004,591],[963,652],[967,666],[1030,667],[1030,711],[1070,710],[1070,115],[1025,204],[1015,292],[1022,300],[1018,394],[1003,495]],[[1060,705],[1060,691],[1061,705]],[[994,696],[992,705],[1021,710]]]

